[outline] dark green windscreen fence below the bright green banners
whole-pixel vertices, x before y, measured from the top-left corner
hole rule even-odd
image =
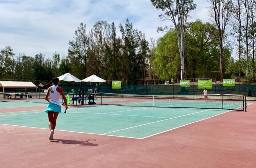
[[[64,92],[67,92],[66,86],[61,86]],[[70,86],[71,89],[75,89],[74,94],[79,95],[80,91],[84,90],[86,93],[94,92],[93,86]],[[118,93],[118,94],[135,94],[135,95],[200,95],[203,94],[203,89],[198,89],[197,85],[189,85],[189,87],[180,87],[180,85],[122,85],[121,89],[112,89],[111,86],[98,86],[98,92],[105,93]],[[223,86],[212,85],[211,89],[208,89],[209,94],[237,94],[246,96],[256,96],[256,85],[235,85],[235,86]],[[85,93],[84,93],[85,94]]]

